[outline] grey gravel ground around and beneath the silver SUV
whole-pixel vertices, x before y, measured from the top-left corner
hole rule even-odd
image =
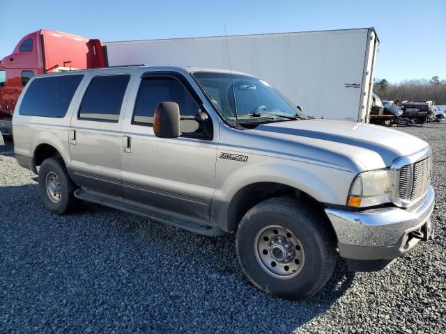
[[[446,333],[446,122],[433,148],[437,238],[378,273],[339,262],[312,299],[260,292],[233,235],[201,237],[100,205],[52,216],[0,147],[0,333]]]

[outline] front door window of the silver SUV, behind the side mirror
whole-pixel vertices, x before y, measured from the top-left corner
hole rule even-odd
[[[162,102],[176,102],[183,116],[195,116],[199,112],[197,102],[180,81],[174,78],[152,77],[142,79],[134,106],[132,123],[153,125],[153,113]],[[194,132],[198,128],[194,120],[182,120],[182,132]]]

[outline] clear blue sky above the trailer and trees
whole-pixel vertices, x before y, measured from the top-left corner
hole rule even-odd
[[[446,0],[0,0],[0,17],[0,58],[41,28],[109,42],[374,26],[376,78],[446,79]]]

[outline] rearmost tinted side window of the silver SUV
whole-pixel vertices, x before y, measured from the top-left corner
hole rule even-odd
[[[19,114],[63,118],[82,77],[75,74],[35,79],[26,90]]]

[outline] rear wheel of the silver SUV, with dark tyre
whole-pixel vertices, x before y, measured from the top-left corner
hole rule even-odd
[[[73,194],[75,189],[61,157],[43,161],[39,170],[38,190],[43,204],[50,212],[66,214],[74,209],[79,204]]]

